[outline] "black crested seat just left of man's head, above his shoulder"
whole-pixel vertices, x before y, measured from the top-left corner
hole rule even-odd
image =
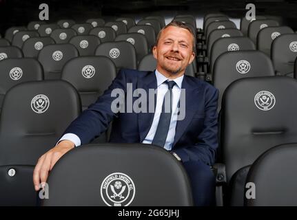
[[[96,56],[106,56],[116,65],[116,71],[121,68],[136,69],[137,59],[134,46],[127,41],[106,42],[96,48]]]

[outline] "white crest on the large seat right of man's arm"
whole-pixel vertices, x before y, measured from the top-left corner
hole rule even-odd
[[[269,91],[259,91],[254,98],[256,107],[262,111],[268,111],[276,104],[276,98]]]

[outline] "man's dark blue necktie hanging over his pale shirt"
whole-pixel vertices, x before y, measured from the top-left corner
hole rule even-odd
[[[162,146],[162,147],[166,142],[166,138],[169,131],[170,120],[172,115],[172,88],[174,87],[174,85],[176,85],[176,83],[173,80],[172,81],[167,80],[164,83],[167,83],[168,91],[164,96],[160,120],[158,121],[158,127],[154,135],[154,140],[152,140],[152,144]],[[170,107],[165,108],[166,104],[170,104]],[[168,112],[168,109],[170,109],[170,112]]]

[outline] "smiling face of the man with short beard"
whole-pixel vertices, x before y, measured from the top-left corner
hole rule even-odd
[[[153,48],[158,71],[169,76],[184,74],[185,68],[195,57],[192,48],[193,38],[188,30],[174,26],[165,28],[158,45]]]

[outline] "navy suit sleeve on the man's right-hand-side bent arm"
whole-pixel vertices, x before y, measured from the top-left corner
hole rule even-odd
[[[203,131],[198,135],[196,144],[178,148],[174,152],[183,162],[201,160],[211,166],[216,157],[218,148],[218,89],[207,88],[205,94],[205,120]]]

